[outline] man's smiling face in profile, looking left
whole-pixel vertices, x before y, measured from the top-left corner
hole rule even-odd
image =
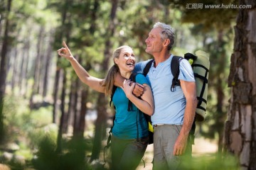
[[[163,50],[163,41],[161,40],[161,28],[153,28],[148,38],[146,38],[146,52],[154,55],[154,53],[161,52]]]

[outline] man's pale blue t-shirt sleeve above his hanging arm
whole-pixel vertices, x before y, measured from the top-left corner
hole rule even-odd
[[[181,60],[180,74],[178,75],[178,79],[181,79],[183,81],[195,81],[193,69],[191,67],[191,64],[189,64],[188,60]]]

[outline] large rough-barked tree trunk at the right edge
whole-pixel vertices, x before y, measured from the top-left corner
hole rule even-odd
[[[240,0],[228,85],[231,87],[225,149],[235,154],[242,169],[256,169],[256,2]]]

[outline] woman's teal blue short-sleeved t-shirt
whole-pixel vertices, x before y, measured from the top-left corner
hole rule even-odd
[[[137,74],[136,82],[139,84],[149,84],[146,77],[142,74]],[[137,111],[137,107],[132,103],[132,111],[128,109],[128,98],[124,94],[124,91],[117,87],[113,96],[113,103],[116,107],[114,127],[112,133],[115,137],[121,139],[136,139],[137,132],[139,132],[139,138],[149,135],[144,113]],[[138,131],[137,131],[138,125]]]

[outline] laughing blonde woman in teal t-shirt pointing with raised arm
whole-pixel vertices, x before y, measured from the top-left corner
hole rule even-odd
[[[124,45],[113,52],[114,65],[105,79],[90,76],[71,54],[68,46],[58,50],[58,55],[68,59],[80,80],[95,91],[112,94],[114,77],[119,72],[125,81],[122,87],[114,91],[112,101],[116,107],[112,128],[112,169],[136,169],[146,150],[149,137],[143,113],[154,113],[154,101],[149,82],[142,74],[137,74],[136,82],[144,85],[144,94],[137,98],[132,94],[135,83],[130,81],[135,66],[135,56],[131,47]],[[132,101],[132,111],[127,111],[127,103]],[[142,112],[140,112],[142,111]]]

